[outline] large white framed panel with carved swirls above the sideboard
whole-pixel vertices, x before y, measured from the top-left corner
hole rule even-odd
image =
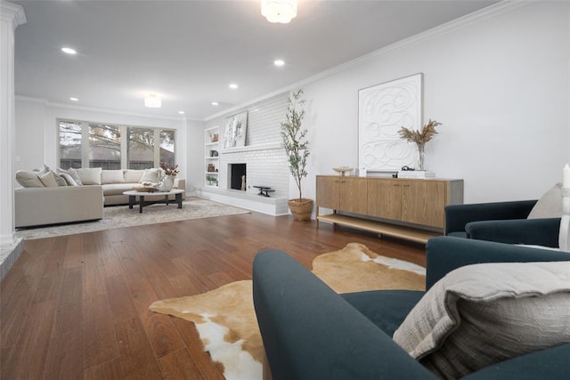
[[[400,139],[401,127],[419,129],[423,75],[403,77],[358,91],[358,167],[397,172],[417,162],[415,144]]]

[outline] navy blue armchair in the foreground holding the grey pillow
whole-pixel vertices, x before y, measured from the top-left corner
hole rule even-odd
[[[570,261],[570,254],[482,240],[440,237],[426,246],[429,288],[471,263]],[[338,295],[280,250],[256,255],[253,297],[273,379],[436,378],[391,336],[423,292]],[[483,368],[468,379],[553,379],[570,371],[570,344]]]

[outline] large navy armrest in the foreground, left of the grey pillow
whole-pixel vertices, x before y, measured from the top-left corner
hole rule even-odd
[[[282,251],[256,255],[253,298],[275,380],[435,378]]]

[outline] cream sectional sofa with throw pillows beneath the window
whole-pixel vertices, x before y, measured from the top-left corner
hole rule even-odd
[[[16,173],[16,180],[25,186],[14,191],[16,228],[102,219],[103,206],[128,204],[124,191],[134,190],[141,182],[159,182],[162,176],[161,169],[76,169],[69,173],[71,179],[67,173],[61,169],[54,173],[47,166],[39,172]],[[175,188],[185,190],[185,181],[176,178]]]

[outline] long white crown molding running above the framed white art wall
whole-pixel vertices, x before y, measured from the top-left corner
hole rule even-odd
[[[232,107],[230,109],[224,109],[223,111],[217,112],[214,115],[206,117],[204,119],[204,121],[210,121],[216,117],[223,117],[224,115],[227,115],[231,112],[234,112],[234,111],[237,111],[240,109],[245,109],[248,106],[250,106],[256,102],[265,101],[266,99],[272,98],[273,96],[276,96],[278,94],[288,93],[289,91],[293,91],[299,87],[302,87],[305,85],[311,85],[314,82],[320,81],[320,80],[325,79],[327,77],[335,76],[335,75],[337,75],[343,71],[346,71],[348,69],[354,69],[354,68],[361,66],[365,63],[376,60],[379,57],[385,56],[389,53],[393,53],[396,50],[403,49],[404,47],[409,46],[411,44],[417,44],[418,42],[421,42],[421,41],[426,40],[428,38],[432,38],[434,36],[442,36],[446,33],[449,33],[453,29],[465,28],[469,25],[476,24],[477,22],[491,19],[491,18],[493,18],[497,15],[500,15],[502,13],[510,12],[510,11],[513,11],[517,8],[520,8],[521,6],[536,3],[538,1],[540,1],[540,0],[504,0],[504,1],[501,1],[501,3],[489,5],[489,6],[483,8],[481,10],[469,13],[469,14],[462,16],[458,19],[448,21],[448,22],[446,22],[442,25],[438,25],[434,28],[430,28],[426,31],[423,31],[423,32],[417,34],[417,35],[414,35],[414,36],[411,36],[408,38],[404,38],[403,40],[395,42],[394,44],[389,44],[389,45],[387,45],[387,46],[385,46],[379,50],[376,50],[374,52],[362,55],[361,57],[355,58],[354,60],[346,61],[345,63],[342,63],[338,66],[335,66],[334,68],[322,71],[321,73],[316,74],[312,77],[307,77],[305,79],[302,79],[302,80],[300,80],[300,81],[298,81],[292,85],[287,85],[285,87],[282,87],[281,89],[273,91],[272,93],[267,93],[263,96],[257,97],[256,99],[254,99],[252,101],[247,101],[245,103],[240,104],[239,106],[235,106],[235,107]]]

